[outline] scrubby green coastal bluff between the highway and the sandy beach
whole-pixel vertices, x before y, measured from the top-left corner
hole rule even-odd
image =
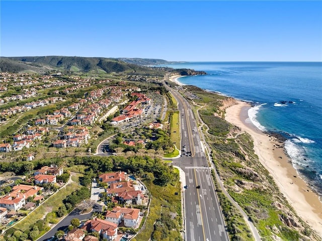
[[[198,97],[194,102],[202,106],[199,114],[209,130],[202,129],[225,189],[245,210],[263,240],[275,240],[273,235],[287,241],[318,240],[285,201],[272,177],[259,162],[252,137],[247,133],[240,134],[237,127],[221,118],[224,115],[221,101],[227,98],[190,86],[185,87],[183,94],[189,96],[190,92]],[[239,135],[231,138],[236,133]],[[231,240],[251,240],[252,235],[244,219],[218,187],[217,194]],[[286,225],[290,219],[294,220],[294,225]]]

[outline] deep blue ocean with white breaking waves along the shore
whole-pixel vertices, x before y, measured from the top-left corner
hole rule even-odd
[[[167,65],[207,75],[178,79],[185,85],[250,101],[252,122],[287,137],[293,167],[322,196],[322,62],[188,62]]]

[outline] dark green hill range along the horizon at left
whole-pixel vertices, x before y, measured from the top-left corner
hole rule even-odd
[[[45,73],[50,70],[89,72],[101,70],[110,72],[141,72],[147,69],[143,65],[170,63],[163,59],[140,58],[103,58],[68,56],[1,57],[0,71],[35,71]]]

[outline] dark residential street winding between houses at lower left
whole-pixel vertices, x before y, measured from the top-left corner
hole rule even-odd
[[[38,238],[37,241],[44,241],[44,240],[54,236],[58,230],[66,229],[70,225],[70,221],[73,218],[78,218],[80,221],[92,218],[92,213],[97,212],[98,210],[99,210],[99,204],[95,204],[93,211],[90,213],[86,213],[86,214],[80,214],[77,209],[74,209],[64,219],[62,219],[59,223],[57,223],[56,226],[54,226],[52,229],[50,229],[45,235]]]

